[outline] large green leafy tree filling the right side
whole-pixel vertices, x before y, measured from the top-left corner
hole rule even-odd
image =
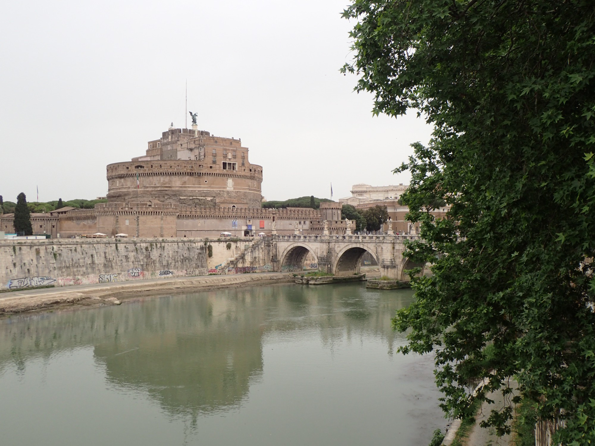
[[[593,444],[593,2],[356,0],[343,15],[356,21],[343,71],[373,112],[415,109],[435,128],[397,169],[421,222],[408,255],[434,265],[394,320],[411,329],[402,351],[433,351],[456,417],[515,376],[538,420],[565,419],[552,444]],[[445,219],[428,212],[437,200]],[[511,414],[482,424],[502,434]]]

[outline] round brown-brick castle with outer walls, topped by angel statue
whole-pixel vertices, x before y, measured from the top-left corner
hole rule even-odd
[[[195,119],[190,129],[172,124],[147,143],[145,155],[109,164],[107,203],[32,214],[34,233],[60,238],[346,233],[340,203],[262,208],[263,169],[250,163],[248,147],[241,139],[198,130]],[[0,217],[0,230],[12,232],[13,219]]]

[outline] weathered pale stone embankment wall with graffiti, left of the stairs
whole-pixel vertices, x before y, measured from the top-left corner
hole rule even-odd
[[[104,238],[0,241],[0,289],[205,275],[203,240]]]

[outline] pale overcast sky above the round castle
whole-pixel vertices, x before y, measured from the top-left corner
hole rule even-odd
[[[372,117],[353,92],[337,0],[21,1],[2,4],[0,194],[107,193],[105,166],[143,155],[188,109],[242,139],[270,200],[407,183],[392,169],[427,142],[419,118]]]

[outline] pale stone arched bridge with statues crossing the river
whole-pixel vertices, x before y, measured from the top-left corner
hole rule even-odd
[[[405,240],[417,235],[273,235],[270,244],[274,271],[302,271],[311,254],[320,271],[336,276],[359,273],[362,256],[368,252],[383,276],[408,281],[406,270],[423,267],[403,256]],[[311,258],[311,257],[310,257]]]

